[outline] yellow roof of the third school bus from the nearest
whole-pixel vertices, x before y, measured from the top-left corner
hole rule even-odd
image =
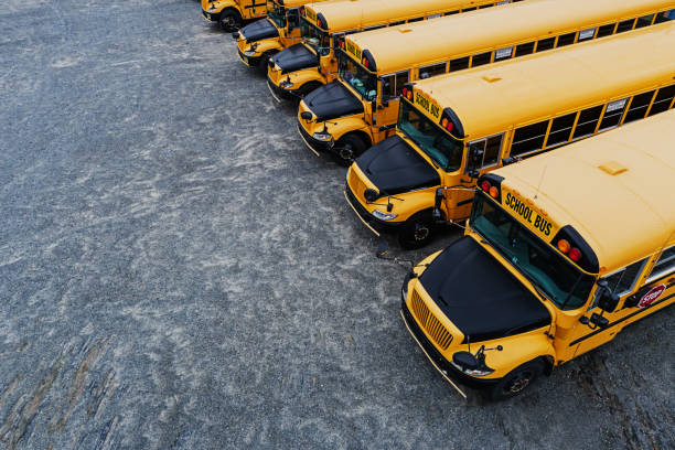
[[[528,0],[373,30],[347,40],[371,52],[378,74],[388,74],[668,8],[675,8],[672,0]]]

